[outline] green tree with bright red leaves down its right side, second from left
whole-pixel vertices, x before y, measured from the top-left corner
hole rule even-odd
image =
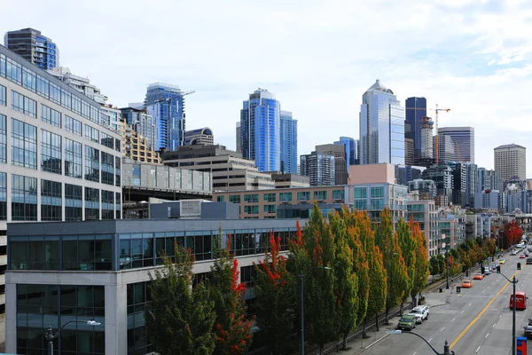
[[[207,287],[215,303],[216,355],[244,354],[253,340],[252,320],[246,319],[246,284],[239,283],[239,262],[231,254],[231,234],[225,248],[216,250]]]

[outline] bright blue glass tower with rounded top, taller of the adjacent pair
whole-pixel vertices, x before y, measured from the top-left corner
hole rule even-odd
[[[275,95],[259,89],[249,94],[240,110],[242,156],[254,160],[260,171],[281,168],[280,107]]]

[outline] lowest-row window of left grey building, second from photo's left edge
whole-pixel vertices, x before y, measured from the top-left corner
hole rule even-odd
[[[12,220],[37,220],[37,178],[12,175]]]

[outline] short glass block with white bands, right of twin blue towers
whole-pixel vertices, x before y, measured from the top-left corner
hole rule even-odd
[[[336,185],[334,155],[312,152],[300,157],[301,175],[310,178],[311,186]]]

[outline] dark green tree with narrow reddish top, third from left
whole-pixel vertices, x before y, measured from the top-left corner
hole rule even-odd
[[[271,231],[269,244],[270,253],[255,265],[256,324],[268,339],[270,353],[277,355],[283,352],[286,339],[293,330],[295,295],[293,277],[286,270],[286,257],[279,254],[281,240],[274,238]]]

